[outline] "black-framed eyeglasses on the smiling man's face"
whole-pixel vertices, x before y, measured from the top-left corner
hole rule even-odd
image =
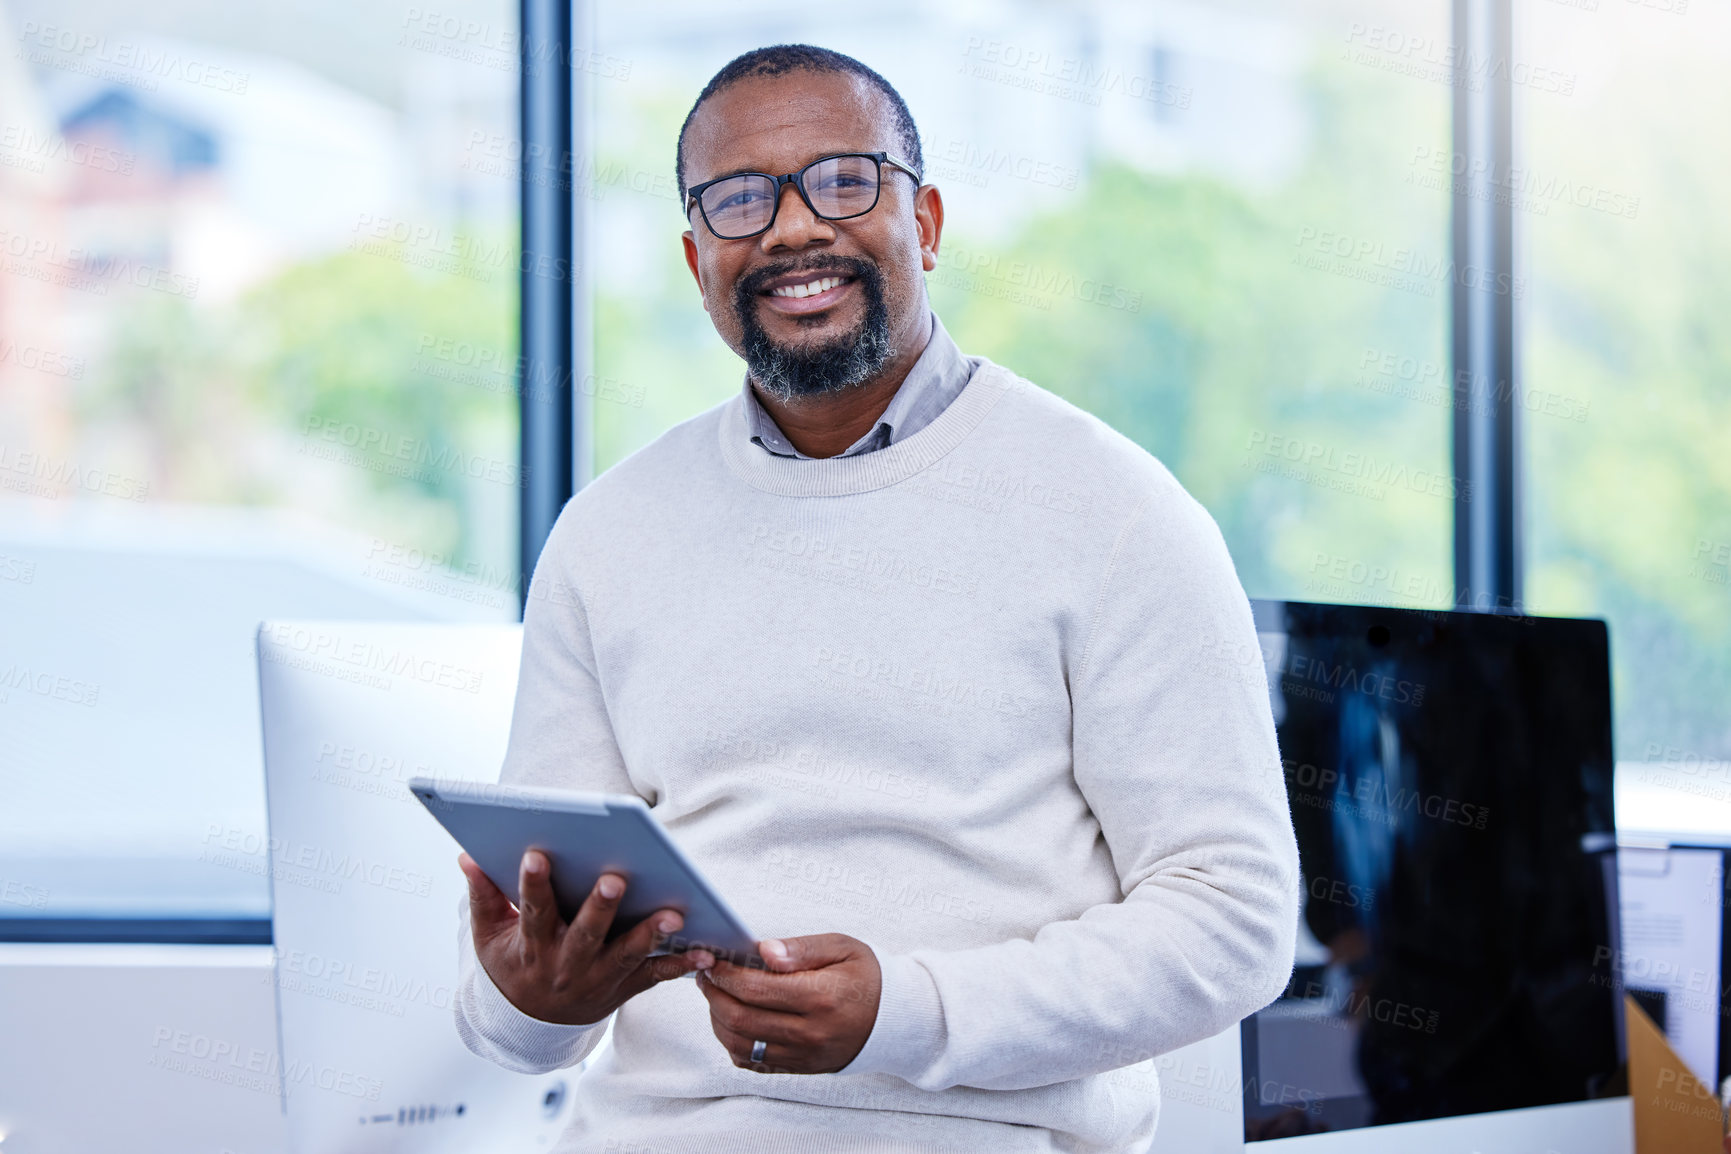
[[[744,240],[769,232],[781,211],[781,187],[793,185],[812,216],[848,220],[878,208],[883,190],[883,166],[900,168],[919,183],[919,173],[888,152],[843,152],[812,161],[796,173],[734,173],[692,185],[685,190],[685,218],[691,206],[703,213],[703,223],[722,240]]]

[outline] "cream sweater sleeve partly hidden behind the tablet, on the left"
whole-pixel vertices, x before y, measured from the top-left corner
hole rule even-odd
[[[530,581],[523,664],[499,780],[634,792],[595,678],[583,599],[561,562],[557,545],[569,533],[568,512],[554,526]],[[467,894],[459,910],[454,1007],[457,1033],[471,1052],[523,1073],[575,1066],[601,1043],[608,1026],[608,1019],[592,1026],[544,1023],[512,1005],[476,957]]]

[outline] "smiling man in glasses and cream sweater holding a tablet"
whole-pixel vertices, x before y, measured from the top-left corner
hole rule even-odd
[[[457,1023],[613,1047],[571,1151],[1134,1151],[1153,1055],[1277,995],[1297,849],[1250,606],[1148,453],[926,303],[943,201],[864,64],[750,52],[680,135],[741,394],[578,493],[535,571],[502,777],[635,792],[769,972],[602,945],[473,862]],[[670,981],[696,972],[694,981]]]

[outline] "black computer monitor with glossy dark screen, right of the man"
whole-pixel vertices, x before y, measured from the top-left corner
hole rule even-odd
[[[1605,623],[1255,616],[1303,901],[1245,1138],[1625,1093]]]

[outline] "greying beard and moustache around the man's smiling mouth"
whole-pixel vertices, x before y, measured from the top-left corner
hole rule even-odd
[[[883,277],[878,268],[859,258],[829,258],[824,265],[840,265],[866,292],[866,315],[860,317],[860,324],[827,344],[815,348],[775,344],[756,320],[756,298],[763,282],[800,272],[798,265],[760,268],[744,277],[734,291],[734,310],[739,313],[751,381],[782,401],[866,384],[883,372],[895,355],[890,344],[890,310],[883,301]]]

